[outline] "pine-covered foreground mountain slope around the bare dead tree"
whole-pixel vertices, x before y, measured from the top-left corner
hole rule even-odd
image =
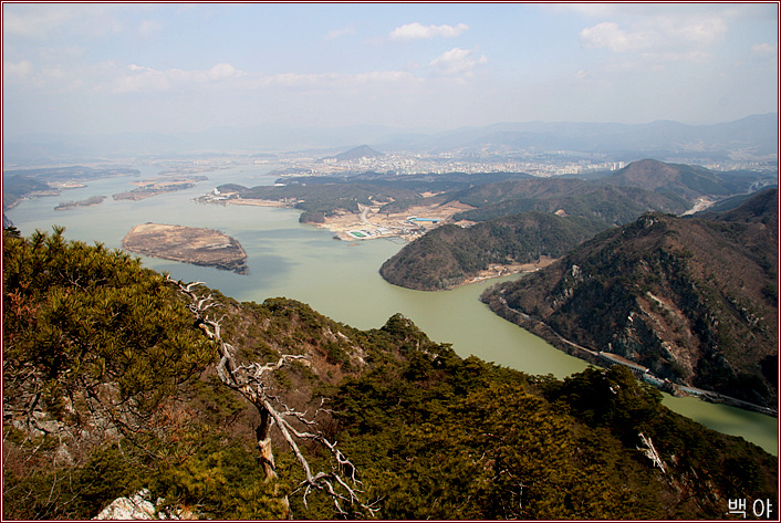
[[[327,492],[304,498],[273,428],[269,479],[263,421],[221,381],[225,357],[194,316],[206,303],[240,366],[291,357],[262,385],[322,436],[301,443],[313,470],[354,467],[346,516],[721,519],[729,499],[778,505],[774,457],[669,411],[622,367],[530,376],[461,358],[398,314],[358,331],[284,297],[187,289],[197,303],[61,229],[4,231],[4,519],[91,519],[143,489],[168,517],[336,515]]]

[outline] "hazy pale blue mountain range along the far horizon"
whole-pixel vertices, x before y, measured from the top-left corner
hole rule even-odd
[[[375,151],[452,153],[464,156],[513,151],[580,151],[632,161],[657,157],[774,158],[778,114],[752,115],[714,125],[659,121],[648,124],[501,123],[438,133],[383,126],[295,128],[219,127],[177,134],[24,135],[3,138],[4,166],[88,161],[128,156],[270,154],[316,149],[323,156],[367,144]]]

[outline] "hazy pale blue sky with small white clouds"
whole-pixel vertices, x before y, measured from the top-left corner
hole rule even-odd
[[[3,133],[778,112],[772,3],[3,3]]]

